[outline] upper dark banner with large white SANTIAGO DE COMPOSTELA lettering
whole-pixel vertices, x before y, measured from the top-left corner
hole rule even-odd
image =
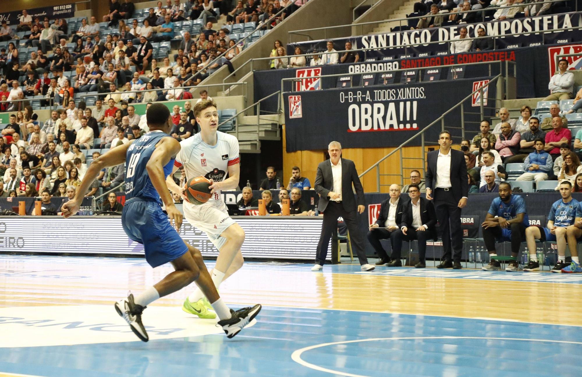
[[[541,45],[542,43],[559,44],[581,39],[582,30],[575,29],[580,26],[581,15],[582,12],[564,13],[487,23],[434,27],[431,29],[395,31],[393,33],[370,34],[361,37],[338,38],[333,40],[333,43],[336,50],[344,49],[346,41],[352,42],[353,48],[378,48],[377,50],[366,51],[365,56],[366,58],[380,58],[381,60],[384,58],[409,57],[402,56],[404,48],[396,47],[400,45],[410,45],[410,47],[406,48],[406,54],[417,54],[417,56],[445,54],[449,51],[448,41],[459,38],[462,27],[467,27],[467,35],[469,37],[478,37],[477,31],[480,28],[485,29],[485,33],[490,37],[500,37],[495,40],[496,49],[529,47]],[[557,31],[544,33],[545,30]],[[290,43],[287,45],[287,52],[288,55],[293,55],[296,46],[301,47],[305,52],[311,52],[314,49],[325,51],[325,43],[325,40]]]

